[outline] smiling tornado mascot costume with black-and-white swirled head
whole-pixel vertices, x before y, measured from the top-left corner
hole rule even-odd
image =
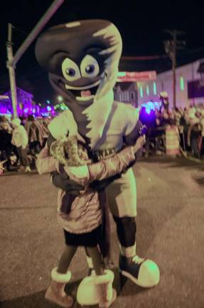
[[[119,31],[106,20],[61,24],[39,36],[38,63],[48,71],[51,85],[68,106],[48,125],[48,147],[63,136],[77,135],[78,140],[85,140],[89,158],[97,162],[139,138],[141,123],[136,108],[114,101],[121,53]],[[60,174],[54,173],[52,178],[55,186],[63,186],[65,179]],[[77,194],[81,188],[66,181],[70,194]],[[119,177],[92,183],[92,187],[107,191],[109,210],[117,226],[120,273],[141,287],[155,286],[159,283],[159,267],[136,255],[136,182],[131,166]],[[92,269],[89,256],[87,260]],[[78,288],[80,304],[87,304],[82,297],[89,284],[86,277]]]

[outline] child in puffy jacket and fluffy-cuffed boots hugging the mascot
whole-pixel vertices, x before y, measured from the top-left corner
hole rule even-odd
[[[114,274],[110,270],[104,270],[104,264],[98,244],[102,230],[102,204],[100,202],[104,191],[97,192],[89,188],[89,183],[94,180],[102,180],[112,175],[122,173],[128,165],[135,160],[137,150],[144,144],[144,137],[138,138],[134,147],[124,148],[112,157],[101,160],[99,163],[91,163],[88,160],[85,148],[77,143],[75,136],[57,140],[48,148],[43,148],[38,156],[36,167],[38,173],[50,173],[58,170],[70,179],[75,180],[84,187],[80,195],[73,196],[63,190],[58,193],[58,222],[65,233],[65,251],[60,257],[58,268],[51,273],[52,282],[45,294],[49,299],[62,307],[71,307],[73,299],[64,292],[65,283],[70,280],[68,271],[70,262],[75,255],[77,246],[84,246],[92,258],[97,276],[95,284],[97,295],[95,302],[87,302],[80,299],[78,302],[85,304],[99,304],[99,307],[109,307],[116,299],[116,291],[112,289]],[[86,289],[84,294],[86,297]]]

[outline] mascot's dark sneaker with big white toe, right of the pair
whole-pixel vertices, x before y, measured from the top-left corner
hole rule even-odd
[[[139,287],[154,287],[159,284],[159,267],[154,261],[134,257],[119,256],[119,272]]]

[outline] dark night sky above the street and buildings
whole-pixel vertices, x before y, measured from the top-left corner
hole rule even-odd
[[[121,0],[122,1],[122,0]],[[1,7],[0,26],[0,93],[9,89],[9,74],[6,69],[6,40],[8,23],[13,24],[14,53],[21,46],[33,27],[43,16],[53,0],[4,1]],[[163,41],[169,39],[163,29],[186,31],[178,39],[186,41],[186,49],[178,51],[178,66],[204,58],[204,1],[69,1],[50,19],[44,29],[78,19],[108,19],[112,21],[123,39],[122,56],[163,55]],[[21,31],[23,32],[21,32]],[[23,54],[16,65],[17,86],[34,95],[34,101],[55,100],[55,94],[48,83],[47,73],[38,66],[34,46],[36,40]],[[169,58],[156,61],[124,61],[121,71],[165,71],[171,68]]]

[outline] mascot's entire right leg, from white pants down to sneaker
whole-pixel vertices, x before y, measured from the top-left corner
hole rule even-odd
[[[121,247],[119,270],[135,284],[153,287],[159,283],[159,267],[136,255],[136,182],[131,168],[108,186],[107,195]]]

